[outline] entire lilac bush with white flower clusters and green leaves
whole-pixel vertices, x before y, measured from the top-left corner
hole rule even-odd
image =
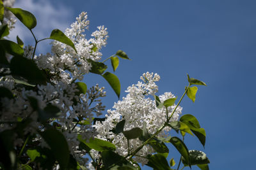
[[[119,58],[129,59],[118,50],[101,60],[100,49],[106,45],[104,26],[86,39],[86,13],[82,12],[70,29],[54,29],[49,38],[36,39],[36,18],[29,11],[5,6],[0,1],[0,169],[140,169],[140,164],[154,169],[173,169],[168,163],[171,143],[180,153],[180,164],[209,169],[209,159],[198,150],[188,150],[186,133],[205,145],[205,130],[193,115],[183,115],[180,102],[187,95],[195,102],[197,87],[206,85],[188,76],[188,87],[177,97],[166,92],[156,96],[160,76],[144,73],[138,84],[127,89],[127,96],[115,103],[106,118],[100,97],[106,96],[99,85],[88,89],[82,82],[88,73],[100,74],[120,97],[118,77],[106,71],[111,60],[116,71]],[[35,46],[25,46],[6,39],[13,28],[13,13],[24,24]],[[53,39],[52,51],[35,55],[40,41]],[[153,97],[150,97],[153,96]],[[170,131],[180,132],[170,136]],[[90,157],[90,162],[88,158]],[[140,164],[139,164],[140,163]],[[183,167],[183,168],[184,168]]]

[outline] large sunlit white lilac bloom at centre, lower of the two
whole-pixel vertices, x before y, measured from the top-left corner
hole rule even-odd
[[[132,85],[127,88],[128,94],[126,97],[123,97],[122,101],[118,101],[113,106],[114,110],[108,110],[108,115],[106,115],[106,120],[104,122],[96,122],[95,128],[99,133],[96,138],[112,141],[116,145],[116,152],[122,156],[126,156],[128,153],[127,139],[125,139],[124,134],[120,133],[118,135],[111,132],[115,128],[116,124],[121,120],[125,120],[124,131],[131,130],[134,127],[143,128],[143,122],[147,123],[147,129],[150,134],[154,134],[161,125],[166,122],[166,110],[165,108],[159,109],[156,107],[156,101],[152,97],[146,97],[148,94],[154,95],[158,87],[156,81],[159,81],[160,77],[158,74],[154,73],[144,73],[141,76],[141,80],[136,85]],[[163,95],[159,96],[161,102],[166,99],[174,98],[171,92],[166,92]],[[173,106],[168,107],[168,115],[170,117],[172,111],[175,108]],[[173,117],[170,121],[178,120],[179,114],[181,113],[182,108],[177,107],[177,110],[174,112]],[[158,137],[167,137],[170,127],[165,127]],[[142,141],[140,139],[130,139],[129,145],[131,152],[136,150]],[[147,164],[148,154],[154,153],[155,151],[150,146],[144,146],[140,152],[134,157],[134,160],[140,162],[141,164]],[[96,157],[99,157],[97,152],[94,152]]]

